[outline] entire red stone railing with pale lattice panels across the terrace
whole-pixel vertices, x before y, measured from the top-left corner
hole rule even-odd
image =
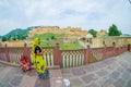
[[[90,48],[78,50],[59,50],[56,47],[43,47],[44,59],[48,66],[60,65],[60,67],[73,67],[88,64],[92,55],[97,60],[105,60],[110,57],[118,55],[128,50],[128,46]],[[24,54],[32,63],[32,48],[29,47],[5,47],[0,48],[0,60],[13,64],[20,64],[19,59]]]

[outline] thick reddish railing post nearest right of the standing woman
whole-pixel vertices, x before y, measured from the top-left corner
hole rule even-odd
[[[59,44],[56,44],[56,47],[53,48],[53,57],[55,65],[60,65],[60,67],[62,67],[62,57],[59,50]]]

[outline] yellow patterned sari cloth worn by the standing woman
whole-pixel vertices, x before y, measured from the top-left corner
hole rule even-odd
[[[46,61],[44,60],[43,55],[37,55],[35,53],[35,47],[36,46],[38,46],[41,49],[41,47],[39,45],[39,38],[35,38],[35,40],[33,42],[32,53],[33,53],[33,63],[34,63],[34,66],[35,66],[36,71],[39,74],[43,74],[47,70],[47,65],[46,65]]]

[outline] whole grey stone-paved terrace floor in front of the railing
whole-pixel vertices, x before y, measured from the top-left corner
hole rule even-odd
[[[71,87],[131,87],[131,52],[61,72]],[[49,78],[39,79],[35,70],[24,73],[0,64],[0,87],[50,87],[50,83]]]

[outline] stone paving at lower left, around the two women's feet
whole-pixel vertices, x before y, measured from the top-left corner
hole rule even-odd
[[[0,64],[0,87],[50,87],[50,82],[49,78],[39,79],[35,70],[23,72]]]

